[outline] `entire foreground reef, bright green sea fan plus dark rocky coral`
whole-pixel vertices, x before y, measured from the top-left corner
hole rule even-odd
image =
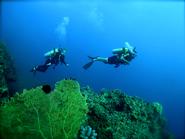
[[[1,139],[172,139],[162,105],[120,90],[62,80],[17,93],[0,106]],[[81,127],[81,128],[80,128]]]

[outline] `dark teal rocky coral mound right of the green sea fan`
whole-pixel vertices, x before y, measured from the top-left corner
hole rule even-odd
[[[104,89],[96,94],[86,87],[81,91],[89,107],[86,124],[96,130],[98,139],[170,138],[159,103],[148,103],[120,90]]]

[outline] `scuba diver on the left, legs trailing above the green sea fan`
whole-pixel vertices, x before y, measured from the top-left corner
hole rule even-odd
[[[44,56],[46,57],[45,63],[43,65],[34,66],[31,69],[31,72],[33,73],[36,73],[37,71],[45,72],[50,66],[53,66],[54,69],[55,66],[59,64],[59,62],[61,64],[64,64],[65,66],[69,66],[69,64],[65,62],[65,53],[66,49],[64,48],[54,48],[53,50],[45,53],[44,54]]]

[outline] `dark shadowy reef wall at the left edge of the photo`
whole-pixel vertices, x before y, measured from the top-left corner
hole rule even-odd
[[[7,97],[11,82],[16,80],[15,68],[6,47],[0,42],[0,98]]]

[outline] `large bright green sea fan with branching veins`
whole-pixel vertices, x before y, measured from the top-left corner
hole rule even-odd
[[[62,80],[51,93],[24,90],[0,107],[1,139],[73,139],[88,106],[77,81]]]

